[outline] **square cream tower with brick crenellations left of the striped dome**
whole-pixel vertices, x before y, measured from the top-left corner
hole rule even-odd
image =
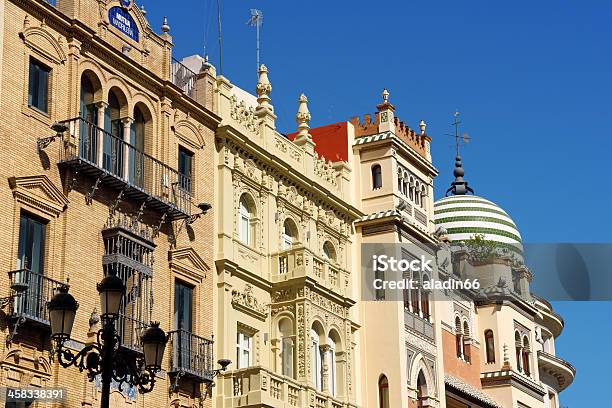
[[[370,116],[351,120],[365,213],[356,223],[361,248],[369,251],[384,244],[397,252],[398,259],[416,259],[421,253],[433,258],[427,247],[436,242],[433,180],[437,170],[431,162],[431,139],[423,121],[418,132],[400,121],[388,98],[385,90],[373,121]],[[411,278],[429,280],[437,275],[435,271],[430,276],[415,273]],[[390,296],[377,293],[378,301],[361,305],[364,406],[443,406],[436,303],[420,289],[395,300]]]

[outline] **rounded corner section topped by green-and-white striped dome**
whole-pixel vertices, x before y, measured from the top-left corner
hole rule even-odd
[[[481,288],[439,302],[447,407],[559,408],[576,375],[555,355],[563,319],[531,293],[533,275],[508,213],[468,195],[459,156],[454,174],[449,196],[434,206],[439,255],[450,260],[440,275],[476,278]]]

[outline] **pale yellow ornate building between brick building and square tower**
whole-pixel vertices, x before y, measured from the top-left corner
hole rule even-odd
[[[359,353],[352,169],[276,130],[272,86],[217,78],[215,354],[233,361],[217,407],[350,407]]]

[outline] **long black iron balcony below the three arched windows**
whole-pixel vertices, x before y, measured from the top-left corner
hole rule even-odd
[[[191,215],[189,177],[85,119],[62,124],[67,131],[61,134],[60,166],[96,180],[88,200],[106,186],[117,190],[119,198],[146,203],[146,209],[166,214],[170,220]]]

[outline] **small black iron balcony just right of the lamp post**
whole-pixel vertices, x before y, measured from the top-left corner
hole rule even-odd
[[[213,341],[186,330],[170,332],[170,370],[168,374],[191,378],[196,382],[212,382]]]

